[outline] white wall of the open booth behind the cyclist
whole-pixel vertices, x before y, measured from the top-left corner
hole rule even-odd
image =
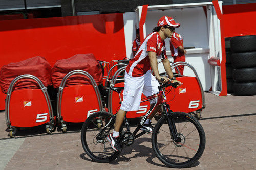
[[[137,14],[138,15],[138,14]],[[135,39],[136,13],[124,13],[124,32],[126,55],[132,57],[132,41]],[[209,91],[211,87],[210,65],[207,63],[209,56],[209,35],[207,26],[207,17],[203,7],[168,9],[168,10],[148,10],[146,17],[146,35],[152,33],[152,29],[157,26],[158,20],[162,16],[170,16],[181,24],[176,32],[183,37],[184,47],[195,47],[188,49],[186,62],[191,64],[197,71],[204,91]],[[137,26],[138,27],[138,26]],[[169,38],[165,39],[166,52],[169,60],[170,56]],[[162,64],[159,64],[159,71],[164,72]],[[195,76],[193,71],[185,66],[184,75]]]

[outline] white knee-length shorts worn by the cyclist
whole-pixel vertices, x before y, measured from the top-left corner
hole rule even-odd
[[[158,86],[159,83],[150,70],[140,77],[130,76],[125,71],[123,101],[120,109],[123,111],[139,110],[141,94],[143,93],[147,97],[157,94],[159,92]],[[150,101],[151,104],[155,102],[156,99]]]

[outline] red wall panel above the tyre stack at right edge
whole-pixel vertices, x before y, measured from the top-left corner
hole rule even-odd
[[[225,5],[224,37],[256,35],[256,3]]]

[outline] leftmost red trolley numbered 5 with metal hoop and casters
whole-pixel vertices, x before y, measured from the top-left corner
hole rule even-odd
[[[40,89],[19,89],[13,91],[18,80],[32,79]],[[14,137],[17,127],[34,127],[46,124],[46,133],[54,128],[54,116],[47,88],[33,75],[20,75],[10,84],[6,96],[6,124],[9,136]]]

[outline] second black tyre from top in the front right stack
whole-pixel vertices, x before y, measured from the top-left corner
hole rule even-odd
[[[231,63],[234,68],[256,67],[256,51],[244,53],[232,53]]]

